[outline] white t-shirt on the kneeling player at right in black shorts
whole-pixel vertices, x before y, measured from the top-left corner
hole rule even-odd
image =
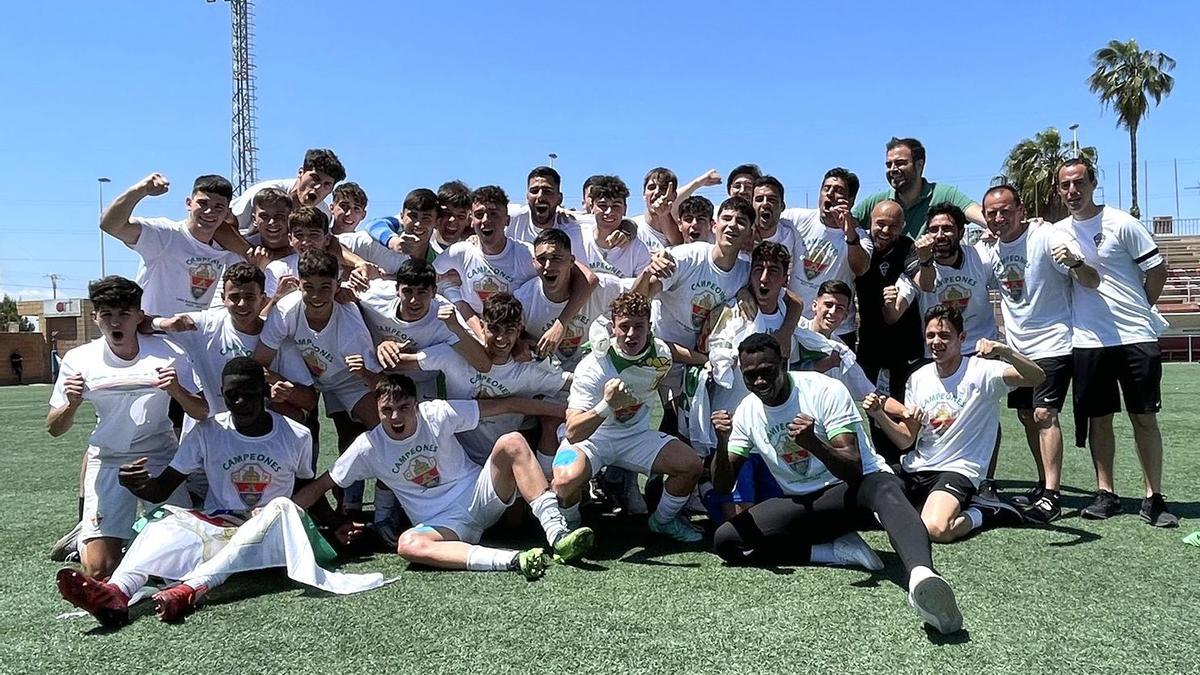
[[[907,472],[953,471],[977,486],[996,449],[1001,399],[1009,392],[1003,362],[964,357],[954,375],[942,380],[937,364],[925,364],[908,377],[905,404],[925,412],[929,423],[917,444],[900,458]]]

